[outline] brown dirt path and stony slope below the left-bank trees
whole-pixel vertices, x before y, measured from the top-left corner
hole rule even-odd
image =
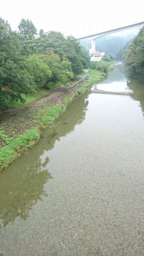
[[[23,134],[27,129],[37,127],[35,114],[33,114],[33,112],[36,110],[38,113],[43,105],[54,106],[62,103],[66,96],[70,96],[74,93],[73,88],[75,88],[75,86],[77,88],[77,86],[82,86],[84,84],[85,79],[87,79],[87,70],[82,76],[68,84],[68,86],[59,86],[56,90],[48,91],[48,94],[28,102],[19,108],[5,110],[4,114],[0,116],[0,129],[2,129],[4,134],[9,138],[16,138],[19,134]],[[4,141],[0,138],[0,147],[3,147],[4,145]]]

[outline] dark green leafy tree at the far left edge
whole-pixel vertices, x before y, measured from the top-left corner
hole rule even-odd
[[[35,83],[22,63],[19,35],[0,18],[0,101],[24,100],[20,93],[33,92]]]

